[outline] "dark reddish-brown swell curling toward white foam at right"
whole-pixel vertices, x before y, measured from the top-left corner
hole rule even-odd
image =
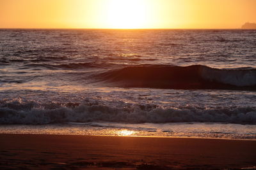
[[[113,69],[99,78],[118,87],[256,90],[256,69],[141,65]]]

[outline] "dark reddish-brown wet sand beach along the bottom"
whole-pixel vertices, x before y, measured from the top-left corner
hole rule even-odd
[[[0,134],[0,168],[241,169],[256,141]]]

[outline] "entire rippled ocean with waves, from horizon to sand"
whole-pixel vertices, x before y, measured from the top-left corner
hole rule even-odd
[[[0,29],[0,132],[256,139],[256,31]]]

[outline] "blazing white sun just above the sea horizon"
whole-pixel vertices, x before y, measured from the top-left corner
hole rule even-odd
[[[114,29],[140,29],[148,20],[146,0],[110,0],[106,24]]]

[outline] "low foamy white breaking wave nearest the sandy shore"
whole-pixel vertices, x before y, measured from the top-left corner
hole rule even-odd
[[[255,107],[200,108],[178,106],[163,108],[154,104],[7,103],[0,108],[0,124],[66,124],[67,122],[225,122],[255,124]]]

